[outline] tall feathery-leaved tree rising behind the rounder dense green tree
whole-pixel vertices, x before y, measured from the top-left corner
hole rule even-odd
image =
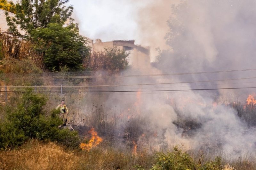
[[[16,5],[16,16],[8,16],[5,13],[9,31],[14,35],[20,35],[17,25],[27,35],[36,28],[46,28],[49,23],[64,24],[67,20],[73,22],[71,14],[73,7],[66,7],[69,0],[21,0]]]

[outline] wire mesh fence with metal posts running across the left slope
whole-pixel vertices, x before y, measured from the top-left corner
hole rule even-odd
[[[106,72],[93,71],[26,75],[0,73],[0,96],[3,101],[14,92],[24,92],[28,89],[40,93],[56,94],[86,91],[89,89],[88,85],[93,85],[93,82],[102,84],[108,82],[108,76]],[[90,90],[94,89],[99,89],[99,87],[90,87]]]

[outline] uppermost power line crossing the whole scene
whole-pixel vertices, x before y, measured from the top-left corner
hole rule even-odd
[[[106,76],[52,76],[52,77],[48,77],[48,76],[34,76],[34,77],[1,77],[3,79],[51,79],[51,78],[55,78],[55,79],[63,79],[63,78],[108,78],[108,77],[143,77],[143,76],[166,76],[166,75],[186,75],[186,74],[208,74],[208,73],[226,73],[226,72],[239,72],[239,71],[253,71],[256,70],[256,68],[252,68],[252,69],[242,69],[242,70],[224,70],[224,71],[211,71],[211,72],[191,72],[191,73],[171,73],[171,74],[138,74],[138,75],[106,75]]]

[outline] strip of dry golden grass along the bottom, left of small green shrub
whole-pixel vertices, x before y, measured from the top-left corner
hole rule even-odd
[[[0,169],[132,169],[142,165],[152,166],[153,157],[146,153],[132,154],[127,150],[98,145],[90,151],[69,150],[49,142],[31,140],[13,151],[0,151]]]

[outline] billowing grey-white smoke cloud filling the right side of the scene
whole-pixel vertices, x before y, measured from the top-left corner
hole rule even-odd
[[[156,2],[152,2],[152,6]],[[160,3],[157,1],[157,4]],[[162,0],[154,11],[147,11],[147,18],[157,16],[157,11],[167,10],[165,38],[163,30],[154,22],[150,30],[154,34],[143,36],[151,48],[156,47],[152,39],[157,39],[161,53],[155,67],[140,63],[140,67],[131,67],[122,75],[195,73],[224,70],[242,70],[254,68],[256,7],[255,1],[183,1],[172,6],[170,1]],[[157,6],[160,6],[157,8]],[[168,7],[168,8],[167,8]],[[147,10],[144,8],[142,10]],[[143,12],[143,11],[141,11]],[[171,13],[171,14],[170,14]],[[164,15],[163,12],[161,12]],[[152,16],[152,17],[151,17]],[[166,17],[166,16],[165,16]],[[156,18],[156,17],[155,17]],[[143,20],[138,16],[138,20]],[[147,22],[143,22],[147,24]],[[143,32],[147,26],[141,25]],[[157,28],[157,29],[154,29]],[[141,33],[143,35],[143,33]],[[154,35],[154,36],[152,36]],[[161,48],[161,44],[166,46]],[[131,57],[136,56],[133,53]],[[152,53],[151,53],[152,54]],[[147,67],[144,67],[147,65]],[[185,149],[204,150],[206,154],[226,155],[237,158],[244,152],[255,153],[255,129],[249,128],[230,101],[224,98],[234,96],[245,101],[253,92],[245,90],[212,90],[157,92],[152,90],[234,88],[252,86],[255,79],[212,81],[254,77],[255,71],[219,72],[210,74],[186,74],[172,76],[122,77],[106,81],[116,85],[116,92],[104,96],[88,95],[88,108],[97,102],[106,108],[108,124],[119,124],[115,131],[128,132],[134,136],[138,149],[157,150],[181,144]],[[209,81],[211,80],[211,81]],[[102,81],[102,80],[101,80]],[[98,82],[101,82],[98,81]],[[192,83],[191,81],[208,81]],[[176,84],[157,84],[190,82]],[[97,81],[95,82],[97,83]],[[136,85],[136,84],[155,85]],[[106,89],[106,88],[105,88]],[[109,88],[108,88],[109,89]],[[227,95],[227,96],[226,96]],[[93,98],[95,99],[93,101]],[[89,100],[90,99],[90,100]],[[243,104],[243,103],[242,103]],[[93,113],[93,112],[92,112]],[[188,122],[188,123],[187,123]],[[255,155],[254,155],[255,156]]]

